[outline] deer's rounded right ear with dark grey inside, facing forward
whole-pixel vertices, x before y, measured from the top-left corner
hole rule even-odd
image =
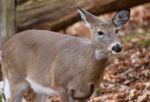
[[[115,27],[123,26],[130,18],[130,9],[121,10],[112,18]]]

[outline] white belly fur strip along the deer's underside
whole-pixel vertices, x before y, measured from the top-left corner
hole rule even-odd
[[[36,92],[36,93],[40,93],[40,94],[45,94],[48,96],[53,96],[53,95],[57,95],[58,93],[49,87],[45,87],[42,86],[36,82],[34,82],[33,80],[31,80],[30,78],[26,77],[26,80],[29,82],[31,88]]]

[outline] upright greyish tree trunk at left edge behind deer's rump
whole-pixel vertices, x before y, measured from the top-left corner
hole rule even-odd
[[[15,34],[15,0],[0,1],[0,50],[3,43]]]

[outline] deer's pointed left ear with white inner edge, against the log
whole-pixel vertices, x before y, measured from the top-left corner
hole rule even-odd
[[[86,24],[86,26],[88,28],[91,28],[91,23],[92,23],[92,21],[94,19],[94,16],[91,13],[89,13],[88,11],[86,11],[86,10],[84,10],[82,8],[78,8],[78,12],[79,12],[79,14],[81,16],[81,19]]]

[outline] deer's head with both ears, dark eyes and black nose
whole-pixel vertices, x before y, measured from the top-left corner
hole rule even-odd
[[[97,50],[119,53],[122,45],[117,39],[118,29],[121,28],[130,17],[130,10],[125,9],[116,13],[111,20],[100,20],[88,11],[79,8],[82,20],[91,32],[91,41]]]

